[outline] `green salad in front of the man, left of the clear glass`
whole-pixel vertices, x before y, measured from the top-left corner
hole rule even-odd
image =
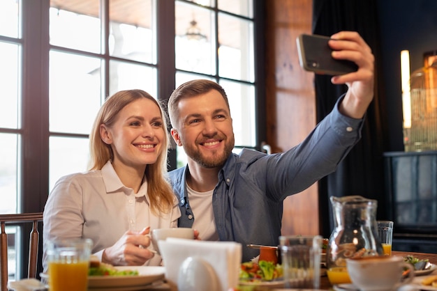
[[[265,260],[243,262],[239,270],[242,281],[273,281],[277,278],[282,278],[282,266]]]

